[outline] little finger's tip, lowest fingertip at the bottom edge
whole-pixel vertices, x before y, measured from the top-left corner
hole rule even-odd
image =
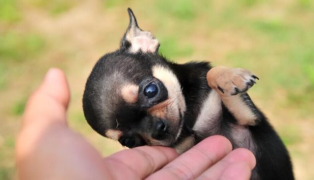
[[[235,162],[230,164],[219,177],[219,180],[249,180],[251,168],[247,163]]]

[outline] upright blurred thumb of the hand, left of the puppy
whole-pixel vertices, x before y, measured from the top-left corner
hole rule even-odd
[[[23,115],[23,127],[61,122],[66,124],[70,92],[64,73],[51,68],[41,86],[29,97]]]

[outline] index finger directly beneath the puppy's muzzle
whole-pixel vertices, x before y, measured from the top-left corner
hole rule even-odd
[[[105,158],[105,164],[110,164],[112,172],[123,169],[113,179],[143,179],[177,157],[177,152],[169,147],[141,146],[115,153]]]

